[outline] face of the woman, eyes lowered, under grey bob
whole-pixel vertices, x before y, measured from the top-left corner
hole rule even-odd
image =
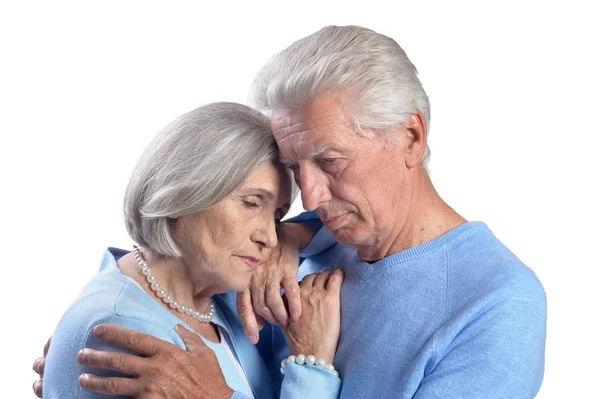
[[[290,207],[290,180],[265,163],[207,211],[179,217],[175,239],[194,281],[239,292],[277,245],[276,221]]]

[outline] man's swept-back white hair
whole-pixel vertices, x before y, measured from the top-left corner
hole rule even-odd
[[[429,98],[404,50],[359,26],[327,26],[273,56],[255,78],[249,104],[270,115],[342,90],[358,129],[385,132],[402,126],[416,110],[429,126]],[[425,167],[429,153],[427,146]]]

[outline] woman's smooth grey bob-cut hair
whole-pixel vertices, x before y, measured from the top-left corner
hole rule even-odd
[[[245,105],[214,103],[181,115],[149,144],[125,192],[127,232],[163,256],[181,256],[177,217],[209,209],[256,168],[277,162],[267,117]]]

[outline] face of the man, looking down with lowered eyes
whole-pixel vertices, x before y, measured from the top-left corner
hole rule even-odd
[[[385,245],[407,195],[403,146],[353,125],[340,95],[325,94],[293,112],[274,113],[281,159],[336,241]],[[405,215],[404,215],[405,216]]]

